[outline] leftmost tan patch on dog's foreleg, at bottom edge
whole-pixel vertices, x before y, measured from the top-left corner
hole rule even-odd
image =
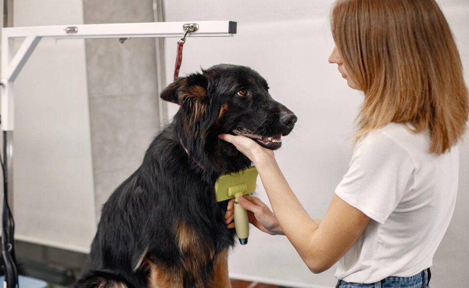
[[[175,268],[158,266],[153,261],[145,259],[148,267],[148,287],[150,288],[182,288],[183,275]]]

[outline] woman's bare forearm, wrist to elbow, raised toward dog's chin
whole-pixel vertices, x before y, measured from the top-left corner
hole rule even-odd
[[[274,157],[256,163],[272,210],[279,221],[283,234],[290,240],[303,261],[311,257],[311,240],[319,222],[313,220],[298,201],[288,185]]]

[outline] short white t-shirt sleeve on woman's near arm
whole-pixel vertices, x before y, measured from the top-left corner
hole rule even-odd
[[[335,193],[366,216],[384,223],[398,206],[413,171],[407,150],[378,130],[356,145],[349,171]]]

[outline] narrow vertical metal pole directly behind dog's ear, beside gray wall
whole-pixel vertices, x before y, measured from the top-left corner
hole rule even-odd
[[[155,22],[165,22],[163,0],[153,0],[153,13]],[[164,38],[156,39],[156,71],[158,83],[158,96],[166,86],[164,61]],[[160,116],[160,129],[163,129],[168,121],[168,105],[165,101],[158,97],[158,108]]]

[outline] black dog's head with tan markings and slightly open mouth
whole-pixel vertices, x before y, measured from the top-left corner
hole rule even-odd
[[[205,153],[240,157],[233,145],[218,141],[221,133],[243,135],[275,150],[297,120],[270,96],[265,79],[245,66],[220,64],[178,78],[161,97],[181,105],[174,122],[189,151],[202,145]]]

